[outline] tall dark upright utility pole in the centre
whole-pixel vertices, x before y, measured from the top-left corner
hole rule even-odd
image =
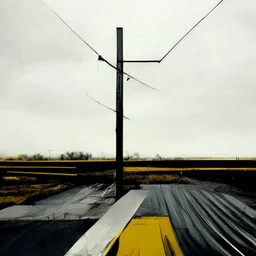
[[[117,28],[116,197],[123,196],[123,28]]]

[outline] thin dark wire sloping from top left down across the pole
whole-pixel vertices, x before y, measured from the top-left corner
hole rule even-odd
[[[112,68],[114,68],[115,70],[117,70],[117,68],[116,68],[113,64],[111,64],[109,61],[107,61],[106,59],[104,59],[90,44],[88,44],[79,34],[77,34],[77,33],[75,32],[75,30],[74,30],[70,25],[68,25],[67,22],[65,22],[65,20],[63,20],[49,5],[47,5],[47,4],[46,4],[44,1],[42,1],[42,0],[39,0],[39,1],[40,1],[45,7],[47,7],[55,16],[57,16],[57,17],[59,18],[59,20],[62,21],[62,22],[68,27],[68,29],[69,29],[70,31],[72,31],[83,43],[85,43],[85,44],[98,56],[98,59],[99,59],[99,60],[102,60],[102,61],[106,62],[110,67],[112,67]],[[137,81],[138,83],[140,83],[140,84],[142,84],[142,85],[144,85],[144,86],[146,86],[146,87],[148,87],[148,88],[150,88],[150,89],[153,89],[153,90],[155,90],[155,91],[158,91],[156,88],[154,88],[154,87],[152,87],[152,86],[150,86],[150,85],[148,85],[148,84],[146,84],[146,83],[140,81],[140,80],[137,79],[136,77],[134,77],[134,76],[132,76],[132,75],[130,75],[130,74],[124,72],[124,71],[123,71],[123,73],[124,73],[125,75],[129,76],[131,79]]]

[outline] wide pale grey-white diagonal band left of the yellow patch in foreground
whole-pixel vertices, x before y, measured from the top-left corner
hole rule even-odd
[[[146,190],[132,190],[118,200],[65,254],[65,256],[100,256],[112,239],[134,216],[147,196]]]

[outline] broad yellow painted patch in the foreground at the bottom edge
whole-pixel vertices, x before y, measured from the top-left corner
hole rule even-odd
[[[135,218],[120,235],[117,255],[168,255],[168,243],[176,256],[183,255],[168,217]]]

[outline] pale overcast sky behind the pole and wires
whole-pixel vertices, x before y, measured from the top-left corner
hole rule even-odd
[[[217,0],[218,1],[218,0]],[[102,56],[161,58],[216,0],[45,0]],[[0,154],[114,156],[116,73],[40,1],[0,0]],[[225,0],[161,64],[125,64],[124,154],[256,156],[256,1]]]

